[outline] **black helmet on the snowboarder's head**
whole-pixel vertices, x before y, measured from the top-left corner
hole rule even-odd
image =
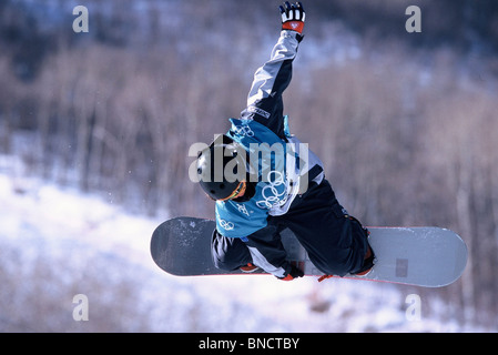
[[[197,179],[213,200],[228,197],[246,180],[246,152],[227,135],[217,136],[197,155]]]

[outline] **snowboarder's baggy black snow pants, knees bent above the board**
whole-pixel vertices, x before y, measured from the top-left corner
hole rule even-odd
[[[358,272],[363,266],[368,247],[365,230],[359,222],[347,216],[325,179],[321,184],[311,183],[306,193],[296,196],[286,214],[268,216],[267,223],[256,232],[260,236],[267,234],[268,241],[275,241],[280,239],[280,232],[288,227],[313,264],[327,275],[344,276]],[[251,245],[268,255],[266,258],[272,260],[275,267],[287,268],[282,243],[263,241],[257,245],[261,239],[254,242],[251,235],[247,240],[225,237],[215,231],[212,255],[216,267],[231,271],[254,263],[247,247]]]

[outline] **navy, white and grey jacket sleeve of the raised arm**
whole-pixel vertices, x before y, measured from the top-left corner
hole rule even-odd
[[[284,138],[282,94],[291,83],[292,65],[302,37],[283,30],[270,61],[257,69],[242,119],[252,119]]]

